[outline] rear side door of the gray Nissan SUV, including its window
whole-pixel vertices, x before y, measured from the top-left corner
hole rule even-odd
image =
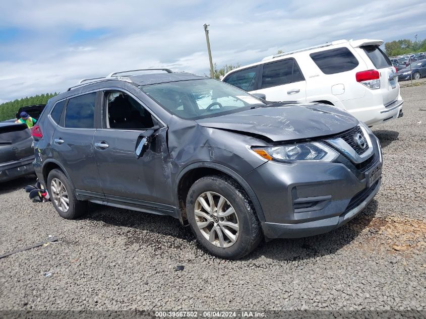
[[[59,123],[51,141],[52,157],[61,163],[77,190],[102,195],[93,148],[96,92],[82,94],[65,101],[65,111],[58,113]],[[60,106],[58,102],[57,106]],[[56,117],[53,108],[50,116]],[[57,117],[59,118],[59,117]],[[97,197],[96,194],[93,194]]]

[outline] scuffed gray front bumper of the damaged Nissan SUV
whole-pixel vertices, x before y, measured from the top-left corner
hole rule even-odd
[[[382,165],[379,141],[372,134],[370,138],[374,154],[356,165],[343,156],[333,163],[268,161],[246,175],[262,207],[265,237],[321,234],[362,211],[381,184],[379,178],[369,186],[370,176]]]

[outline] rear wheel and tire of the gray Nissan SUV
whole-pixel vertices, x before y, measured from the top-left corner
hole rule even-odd
[[[87,202],[79,201],[76,190],[67,176],[52,169],[47,177],[47,190],[58,214],[66,219],[75,219],[87,212]]]

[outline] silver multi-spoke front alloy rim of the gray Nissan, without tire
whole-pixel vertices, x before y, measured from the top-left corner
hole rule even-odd
[[[195,202],[195,221],[201,234],[213,245],[232,246],[239,234],[238,217],[232,205],[214,192],[201,194]]]

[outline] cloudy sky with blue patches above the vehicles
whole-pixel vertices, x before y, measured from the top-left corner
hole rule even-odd
[[[338,39],[426,38],[424,0],[0,0],[0,103],[80,79],[166,67],[209,73]]]

